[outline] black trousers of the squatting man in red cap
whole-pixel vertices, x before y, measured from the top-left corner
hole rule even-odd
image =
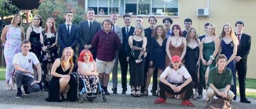
[[[171,83],[171,84],[180,86],[183,83]],[[194,85],[195,85],[195,82],[191,81],[189,84],[187,84],[187,86],[183,87],[179,92],[174,92],[170,86],[168,86],[160,81],[159,82],[160,97],[166,99],[165,91],[171,95],[179,95],[179,94],[183,93],[184,91],[186,91],[186,94],[185,94],[185,97],[183,98],[183,100],[189,100],[189,98],[191,97],[191,94],[193,93]]]

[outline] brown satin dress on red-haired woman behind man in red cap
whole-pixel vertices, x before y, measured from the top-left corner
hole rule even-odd
[[[182,37],[182,36],[180,36],[180,37]],[[173,38],[173,36],[171,36],[171,38]],[[172,57],[174,55],[178,55],[180,57],[182,52],[183,52],[183,49],[184,49],[183,37],[182,37],[182,44],[178,47],[174,47],[172,42],[169,43],[169,52],[170,52]],[[165,56],[165,67],[169,66],[170,63],[171,63],[171,61],[170,61],[169,57],[166,55]],[[184,59],[181,60],[181,63],[184,64]],[[184,81],[184,78],[183,78],[183,81]],[[165,92],[165,95],[166,95],[167,98],[174,98],[174,96],[175,96],[175,95],[170,95],[167,92]],[[185,92],[180,94],[179,97],[182,99],[182,98],[184,98],[184,96],[185,96]]]

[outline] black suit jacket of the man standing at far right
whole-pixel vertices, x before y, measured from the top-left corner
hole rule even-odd
[[[240,56],[242,59],[237,62],[237,64],[247,64],[247,56],[250,53],[250,43],[251,37],[247,34],[242,33],[236,54],[236,56]]]

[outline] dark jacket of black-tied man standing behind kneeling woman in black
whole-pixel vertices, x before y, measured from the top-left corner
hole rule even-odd
[[[66,24],[59,25],[58,41],[60,45],[59,55],[62,55],[64,48],[71,47],[76,52],[76,44],[78,43],[79,29],[76,25],[72,24],[70,33],[67,31]]]

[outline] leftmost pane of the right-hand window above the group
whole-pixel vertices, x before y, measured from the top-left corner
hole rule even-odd
[[[125,0],[125,14],[137,15],[137,0]]]

